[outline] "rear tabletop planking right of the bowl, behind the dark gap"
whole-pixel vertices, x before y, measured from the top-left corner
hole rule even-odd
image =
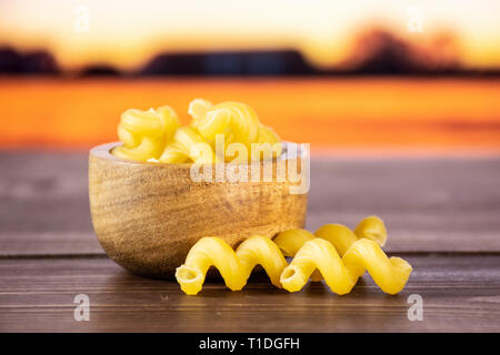
[[[500,160],[322,160],[313,166],[311,230],[328,221],[354,226],[378,214],[389,251],[500,250]]]

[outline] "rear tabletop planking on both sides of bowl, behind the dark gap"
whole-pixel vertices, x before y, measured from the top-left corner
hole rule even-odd
[[[500,159],[316,159],[307,227],[378,214],[392,252],[500,251]],[[0,153],[0,256],[102,254],[86,153]]]

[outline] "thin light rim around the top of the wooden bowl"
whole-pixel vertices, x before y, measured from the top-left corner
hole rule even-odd
[[[280,156],[278,158],[273,158],[272,162],[277,162],[278,160],[292,160],[292,159],[303,159],[309,154],[309,150],[303,149],[303,143],[299,144],[299,143],[293,143],[293,142],[287,142],[287,141],[282,141],[281,144],[283,145],[283,151],[281,153]],[[117,148],[122,145],[121,142],[109,142],[109,143],[103,143],[103,144],[99,144],[93,146],[92,149],[90,149],[89,151],[89,155],[96,156],[96,158],[100,158],[100,159],[104,159],[104,160],[109,160],[109,161],[113,161],[116,163],[120,163],[120,164],[130,164],[130,165],[156,165],[156,166],[182,166],[182,168],[190,168],[193,163],[162,163],[162,162],[150,162],[150,161],[138,161],[138,160],[128,160],[128,159],[122,159],[119,156],[116,156],[113,154],[111,154],[111,151]],[[294,149],[290,149],[290,148],[294,148]],[[256,164],[256,163],[264,163],[264,162],[270,162],[270,160],[268,161],[260,161],[260,162],[249,162],[248,165],[250,164]],[[211,165],[216,165],[216,164],[221,164],[221,163],[212,163]],[[226,164],[228,164],[228,162],[226,162]],[[200,164],[203,165],[203,164]],[[243,164],[241,164],[243,165]]]

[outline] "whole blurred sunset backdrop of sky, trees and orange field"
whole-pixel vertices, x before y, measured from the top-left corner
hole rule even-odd
[[[243,101],[313,154],[498,154],[500,1],[0,1],[0,150]]]

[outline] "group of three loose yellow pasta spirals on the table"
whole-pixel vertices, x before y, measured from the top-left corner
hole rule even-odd
[[[387,232],[382,220],[369,216],[354,232],[341,224],[327,224],[314,234],[289,230],[274,241],[264,236],[246,240],[234,252],[218,237],[203,237],[193,245],[176,277],[184,293],[196,295],[202,287],[210,266],[216,266],[226,285],[241,290],[253,267],[260,264],[273,285],[289,292],[301,290],[311,280],[324,278],[340,295],[349,293],[368,270],[386,293],[400,292],[412,271],[400,257],[388,258],[381,250]],[[284,256],[293,256],[290,265]]]

